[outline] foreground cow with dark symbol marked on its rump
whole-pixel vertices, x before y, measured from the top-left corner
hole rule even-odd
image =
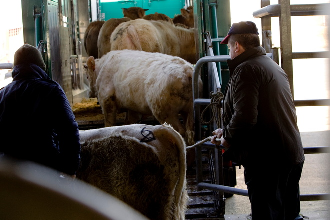
[[[79,179],[151,220],[185,219],[186,145],[171,126],[132,124],[79,132]]]

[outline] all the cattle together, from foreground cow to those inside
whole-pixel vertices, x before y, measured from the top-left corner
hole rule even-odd
[[[183,220],[186,145],[194,143],[193,8],[173,19],[145,11],[123,9],[123,18],[86,29],[89,97],[97,97],[105,128],[80,131],[77,177],[149,219]],[[202,87],[200,77],[198,83]],[[126,113],[123,126],[116,126],[118,112]],[[149,115],[161,125],[137,123]]]

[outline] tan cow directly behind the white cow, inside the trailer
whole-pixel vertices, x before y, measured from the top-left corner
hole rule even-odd
[[[136,19],[119,24],[111,35],[111,51],[122,49],[160,52],[197,62],[194,28],[176,27],[163,20]]]

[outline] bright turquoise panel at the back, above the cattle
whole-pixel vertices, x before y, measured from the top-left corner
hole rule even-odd
[[[184,7],[184,0],[136,0],[100,3],[101,13],[104,13],[104,20],[110,18],[122,18],[121,8],[141,7],[148,9],[145,14],[163,13],[173,18],[176,14],[180,14],[180,9]]]

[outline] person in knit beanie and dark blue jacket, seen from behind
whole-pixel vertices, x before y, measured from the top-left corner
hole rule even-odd
[[[34,46],[24,44],[16,51],[13,81],[0,90],[0,152],[75,177],[78,124],[63,89],[45,69]]]

